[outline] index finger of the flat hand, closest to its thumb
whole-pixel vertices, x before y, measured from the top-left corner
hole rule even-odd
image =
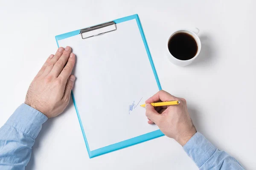
[[[76,62],[75,54],[71,53],[70,57],[68,58],[67,64],[62,69],[61,74],[59,75],[60,79],[67,81],[68,77],[70,77],[70,74],[72,73],[75,62]]]

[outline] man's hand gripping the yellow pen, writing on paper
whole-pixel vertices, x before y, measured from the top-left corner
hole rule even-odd
[[[180,104],[155,108],[149,104],[172,100],[179,100]],[[185,99],[177,98],[161,90],[147,99],[145,103],[146,116],[149,119],[148,123],[155,123],[166,136],[175,139],[181,146],[184,146],[196,133],[195,126],[189,116]]]

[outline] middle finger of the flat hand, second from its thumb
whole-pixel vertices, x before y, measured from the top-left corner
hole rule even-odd
[[[70,53],[71,53],[71,48],[69,46],[67,46],[65,48],[65,50],[63,51],[61,57],[58,59],[58,61],[53,66],[53,68],[49,74],[51,74],[54,77],[58,77],[59,74],[61,73],[61,71],[63,70],[64,66],[66,65],[67,60],[70,57]],[[70,76],[70,75],[68,75],[68,76]]]

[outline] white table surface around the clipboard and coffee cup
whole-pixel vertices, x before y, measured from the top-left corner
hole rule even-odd
[[[55,35],[139,14],[164,90],[184,97],[195,127],[246,169],[256,168],[255,1],[0,0],[0,125],[57,45]],[[164,56],[178,28],[198,27],[201,54],[178,67]],[[145,118],[145,121],[146,118]],[[160,137],[89,159],[75,108],[49,119],[28,170],[196,170],[173,139]]]

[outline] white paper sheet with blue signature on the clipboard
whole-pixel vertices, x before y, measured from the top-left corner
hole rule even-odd
[[[137,22],[116,27],[84,40],[76,35],[58,41],[76,54],[73,93],[90,150],[158,129],[148,125],[140,107],[158,87]]]

